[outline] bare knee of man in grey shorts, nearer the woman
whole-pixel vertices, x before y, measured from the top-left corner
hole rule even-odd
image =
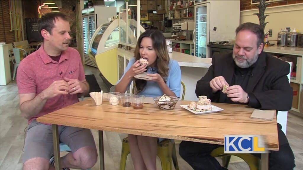
[[[78,152],[79,151],[79,152]],[[76,151],[79,158],[79,166],[82,169],[92,168],[98,159],[98,153],[96,148],[83,147]]]

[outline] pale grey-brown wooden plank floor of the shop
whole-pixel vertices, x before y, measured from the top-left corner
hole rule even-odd
[[[94,74],[100,88],[107,92],[102,79],[99,77],[98,69],[85,66],[85,74]],[[7,86],[0,86],[0,170],[20,170],[22,169],[22,154],[25,138],[25,128],[27,120],[20,116],[18,109],[18,89],[15,81],[10,82]],[[98,146],[98,132],[92,130]],[[105,169],[118,170],[122,139],[125,134],[104,132],[104,148],[105,148]],[[303,119],[293,114],[288,114],[287,122],[287,138],[291,148],[295,154],[295,169],[303,169]],[[176,145],[178,151],[179,145]],[[178,163],[180,170],[192,169],[179,155]],[[221,161],[218,159],[219,162]],[[98,163],[92,170],[98,170]],[[128,155],[126,170],[132,170],[132,160]],[[157,169],[161,170],[160,160],[157,160]],[[174,168],[173,168],[174,169]],[[248,169],[244,162],[232,163],[228,167],[229,170]]]

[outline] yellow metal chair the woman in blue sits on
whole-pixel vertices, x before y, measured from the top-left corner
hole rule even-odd
[[[181,81],[181,85],[183,87],[183,93],[181,100],[184,100],[185,96],[185,85]],[[132,93],[135,92],[135,85],[132,88]],[[126,158],[130,153],[128,139],[127,137],[122,141],[122,152],[121,152],[121,160],[120,160],[120,170],[125,170],[126,166]],[[158,143],[157,147],[157,155],[161,160],[162,170],[171,170],[171,160],[173,161],[174,167],[176,170],[179,170],[177,154],[176,154],[176,145],[174,140],[164,139],[160,143]]]

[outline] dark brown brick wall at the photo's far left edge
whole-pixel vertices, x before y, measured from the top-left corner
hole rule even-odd
[[[0,0],[0,42],[13,43],[15,42],[15,33],[9,31],[11,22],[8,9],[8,0]]]

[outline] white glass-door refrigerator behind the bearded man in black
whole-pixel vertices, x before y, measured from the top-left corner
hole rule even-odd
[[[199,5],[196,5],[197,3]],[[209,47],[207,47],[209,42],[234,40],[235,30],[239,24],[240,1],[196,1],[193,34],[195,56],[211,57],[208,52]]]

